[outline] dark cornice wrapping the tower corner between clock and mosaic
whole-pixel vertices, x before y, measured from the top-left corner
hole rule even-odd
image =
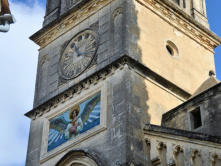
[[[65,90],[64,92],[49,99],[48,101],[39,105],[38,107],[33,108],[31,111],[26,113],[25,116],[33,120],[38,117],[41,117],[43,114],[49,112],[53,108],[56,108],[60,103],[64,103],[67,100],[72,99],[74,96],[79,95],[83,90],[89,89],[91,85],[98,84],[98,82],[103,81],[109,76],[113,75],[117,70],[123,70],[126,66],[129,69],[134,69],[146,75],[148,78],[157,82],[160,86],[171,91],[172,93],[175,93],[176,95],[179,95],[184,100],[187,100],[191,96],[183,89],[177,87],[172,82],[166,80],[165,78],[153,72],[146,66],[140,64],[138,61],[135,61],[131,57],[124,55],[118,60],[114,61],[113,63],[105,66],[101,70],[97,71],[96,73],[88,76],[84,80]]]

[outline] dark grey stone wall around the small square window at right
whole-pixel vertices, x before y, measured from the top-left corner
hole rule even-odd
[[[188,131],[197,131],[210,135],[221,136],[220,127],[220,83],[205,92],[191,98],[184,104],[165,113],[162,125]],[[196,108],[200,109],[201,126],[193,128],[194,119],[191,119],[191,112]]]

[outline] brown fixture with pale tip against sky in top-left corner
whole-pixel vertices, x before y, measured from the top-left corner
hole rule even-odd
[[[15,18],[11,14],[8,0],[0,0],[0,32],[8,32],[13,23]]]

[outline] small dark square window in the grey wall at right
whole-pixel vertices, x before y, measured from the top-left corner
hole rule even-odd
[[[197,107],[196,109],[190,112],[190,120],[193,130],[202,126],[200,107]]]

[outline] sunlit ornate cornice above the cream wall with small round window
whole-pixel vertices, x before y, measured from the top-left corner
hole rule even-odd
[[[214,52],[213,49],[220,45],[221,39],[219,37],[217,37],[211,31],[205,30],[205,27],[199,25],[199,23],[197,23],[193,18],[182,12],[172,3],[165,2],[165,0],[163,0],[163,2],[160,0],[136,1],[146,8],[152,10],[154,13],[166,20],[169,24],[172,24],[174,27],[178,28],[191,39],[195,40],[203,47],[209,49],[211,52]],[[170,6],[167,6],[168,4],[176,9],[171,9]],[[182,13],[182,15],[180,13]],[[189,18],[187,19],[187,17]]]

